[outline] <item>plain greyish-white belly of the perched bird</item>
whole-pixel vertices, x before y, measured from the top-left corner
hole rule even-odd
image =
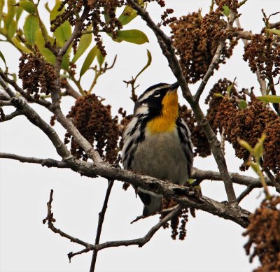
[[[183,185],[188,180],[186,155],[176,129],[147,134],[134,153],[132,169],[154,178]]]

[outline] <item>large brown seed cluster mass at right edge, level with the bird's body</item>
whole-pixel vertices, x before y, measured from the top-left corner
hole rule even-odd
[[[228,80],[223,80],[214,85],[211,90],[207,103],[209,110],[207,118],[214,128],[215,132],[220,132],[224,129],[225,140],[232,144],[235,149],[235,155],[247,162],[249,153],[238,142],[238,138],[247,141],[251,146],[258,142],[258,138],[265,132],[264,148],[265,155],[263,156],[263,166],[272,170],[275,174],[280,171],[280,118],[273,110],[267,108],[262,101],[255,99],[251,94],[251,101],[248,102],[246,109],[238,107],[238,99],[246,99],[246,96],[237,93],[234,87],[230,98],[226,94],[226,85],[230,84]],[[225,98],[215,96],[215,93],[220,93]],[[248,166],[243,164],[241,170]]]

